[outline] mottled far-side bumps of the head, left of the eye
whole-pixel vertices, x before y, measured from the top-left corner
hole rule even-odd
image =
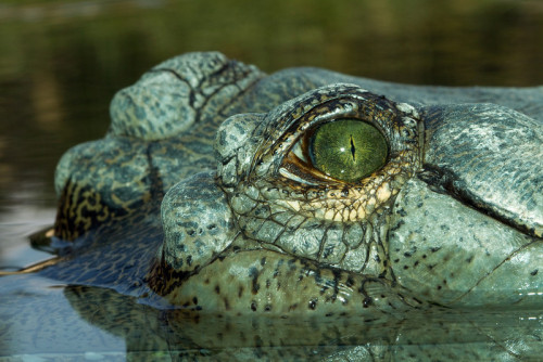
[[[55,173],[55,235],[76,240],[160,203],[179,180],[214,165],[213,138],[237,96],[264,76],[219,53],[161,63],[111,103],[103,140],[63,155]],[[154,174],[153,174],[154,173]]]

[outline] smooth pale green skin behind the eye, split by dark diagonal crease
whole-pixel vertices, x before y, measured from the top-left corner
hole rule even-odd
[[[426,170],[391,218],[399,283],[447,306],[541,306],[541,121],[489,104],[426,112]]]

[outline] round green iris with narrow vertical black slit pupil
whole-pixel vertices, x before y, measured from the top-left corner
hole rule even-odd
[[[387,140],[376,127],[362,120],[324,124],[308,141],[313,166],[338,180],[358,181],[387,163]]]

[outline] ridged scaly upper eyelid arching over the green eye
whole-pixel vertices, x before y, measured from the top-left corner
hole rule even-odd
[[[302,151],[296,150],[301,145],[299,142],[303,142],[307,132],[315,130],[319,125],[338,119],[351,118],[370,122],[390,142],[389,137],[393,130],[389,129],[388,126],[390,126],[391,119],[397,117],[397,113],[393,103],[386,98],[357,89],[349,89],[349,93],[340,92],[329,98],[323,96],[326,99],[320,102],[315,102],[315,98],[311,99],[310,95],[306,95],[306,98],[307,100],[293,104],[290,111],[283,108],[278,109],[277,113],[268,114],[267,121],[262,125],[263,128],[258,132],[260,135],[257,135],[261,139],[255,140],[258,147],[255,150],[255,156],[248,169],[248,174],[254,178],[266,177],[273,179],[280,177],[286,181],[292,181],[285,178],[285,176],[292,173],[292,169],[295,167],[290,167],[287,170],[288,172],[282,171],[282,176],[279,172],[281,167],[290,163],[287,155],[294,150],[298,153],[295,158],[300,160],[296,165],[311,165],[308,154],[303,152],[303,147]],[[311,177],[306,180],[306,183],[317,183],[323,186],[352,183],[331,178],[315,168],[313,168],[313,171],[316,172],[294,171],[294,173],[302,179],[306,176]],[[312,173],[316,174],[312,176]]]

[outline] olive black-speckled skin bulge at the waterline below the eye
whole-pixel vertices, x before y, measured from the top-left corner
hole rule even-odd
[[[307,311],[324,315],[338,308],[354,314],[371,310],[374,315],[400,315],[409,309],[431,308],[383,279],[323,268],[316,262],[292,259],[276,251],[226,253],[226,258],[216,259],[191,275],[172,271],[160,275],[167,279],[168,289],[157,292],[172,302],[202,313],[214,313],[217,305],[243,314],[277,315]],[[245,275],[240,277],[238,273],[243,270]],[[211,277],[214,283],[206,283]]]

